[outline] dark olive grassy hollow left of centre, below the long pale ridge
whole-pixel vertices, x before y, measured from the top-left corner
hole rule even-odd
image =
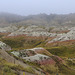
[[[21,48],[34,48],[41,43],[43,43],[42,39],[34,39],[27,37],[16,37],[16,38],[2,38],[1,41],[11,46],[11,48],[21,49]]]

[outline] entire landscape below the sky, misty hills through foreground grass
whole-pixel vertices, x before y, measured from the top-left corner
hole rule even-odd
[[[75,75],[74,15],[0,15],[0,75]]]

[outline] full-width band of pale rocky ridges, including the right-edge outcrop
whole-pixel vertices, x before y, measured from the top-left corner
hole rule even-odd
[[[61,33],[60,33],[61,31]],[[9,26],[0,28],[1,33],[9,33],[7,36],[18,36],[18,35],[26,35],[26,36],[47,36],[47,37],[56,37],[50,42],[55,41],[66,41],[66,40],[74,40],[75,39],[75,27],[54,27],[49,32],[48,28],[42,28],[39,26],[27,26],[27,27],[20,27],[17,26]],[[49,42],[49,43],[50,43]]]

